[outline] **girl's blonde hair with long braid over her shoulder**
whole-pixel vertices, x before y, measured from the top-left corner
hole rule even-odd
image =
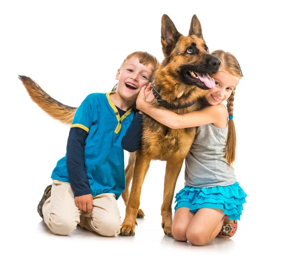
[[[225,71],[228,74],[234,76],[239,83],[239,80],[243,77],[242,70],[240,68],[239,62],[236,57],[230,52],[225,52],[223,50],[213,51],[212,54],[216,56],[220,61],[219,71]],[[235,88],[232,91],[232,94],[227,99],[227,111],[228,116],[233,116],[234,111],[234,99],[235,99]],[[232,163],[235,161],[236,157],[236,129],[233,119],[228,120],[228,133],[226,138],[226,161],[232,166]]]

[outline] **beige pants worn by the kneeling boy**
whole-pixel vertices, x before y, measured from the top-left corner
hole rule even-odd
[[[101,236],[118,235],[121,216],[113,193],[93,197],[91,213],[80,211],[75,204],[74,191],[67,182],[53,180],[51,197],[43,207],[42,214],[48,228],[56,235],[68,235],[79,224]]]

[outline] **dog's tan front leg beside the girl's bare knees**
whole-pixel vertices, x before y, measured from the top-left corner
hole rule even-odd
[[[161,216],[162,216],[162,228],[164,234],[172,237],[171,227],[172,227],[172,199],[174,195],[175,184],[177,177],[182,168],[184,158],[174,158],[167,160],[166,171],[164,178],[164,193],[163,193],[163,203],[161,206]]]

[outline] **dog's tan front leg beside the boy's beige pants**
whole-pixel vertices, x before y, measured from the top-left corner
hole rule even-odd
[[[140,206],[140,195],[145,176],[149,169],[150,158],[140,153],[136,156],[134,167],[133,182],[126,207],[126,216],[122,224],[122,236],[134,236],[136,226],[136,216]]]

